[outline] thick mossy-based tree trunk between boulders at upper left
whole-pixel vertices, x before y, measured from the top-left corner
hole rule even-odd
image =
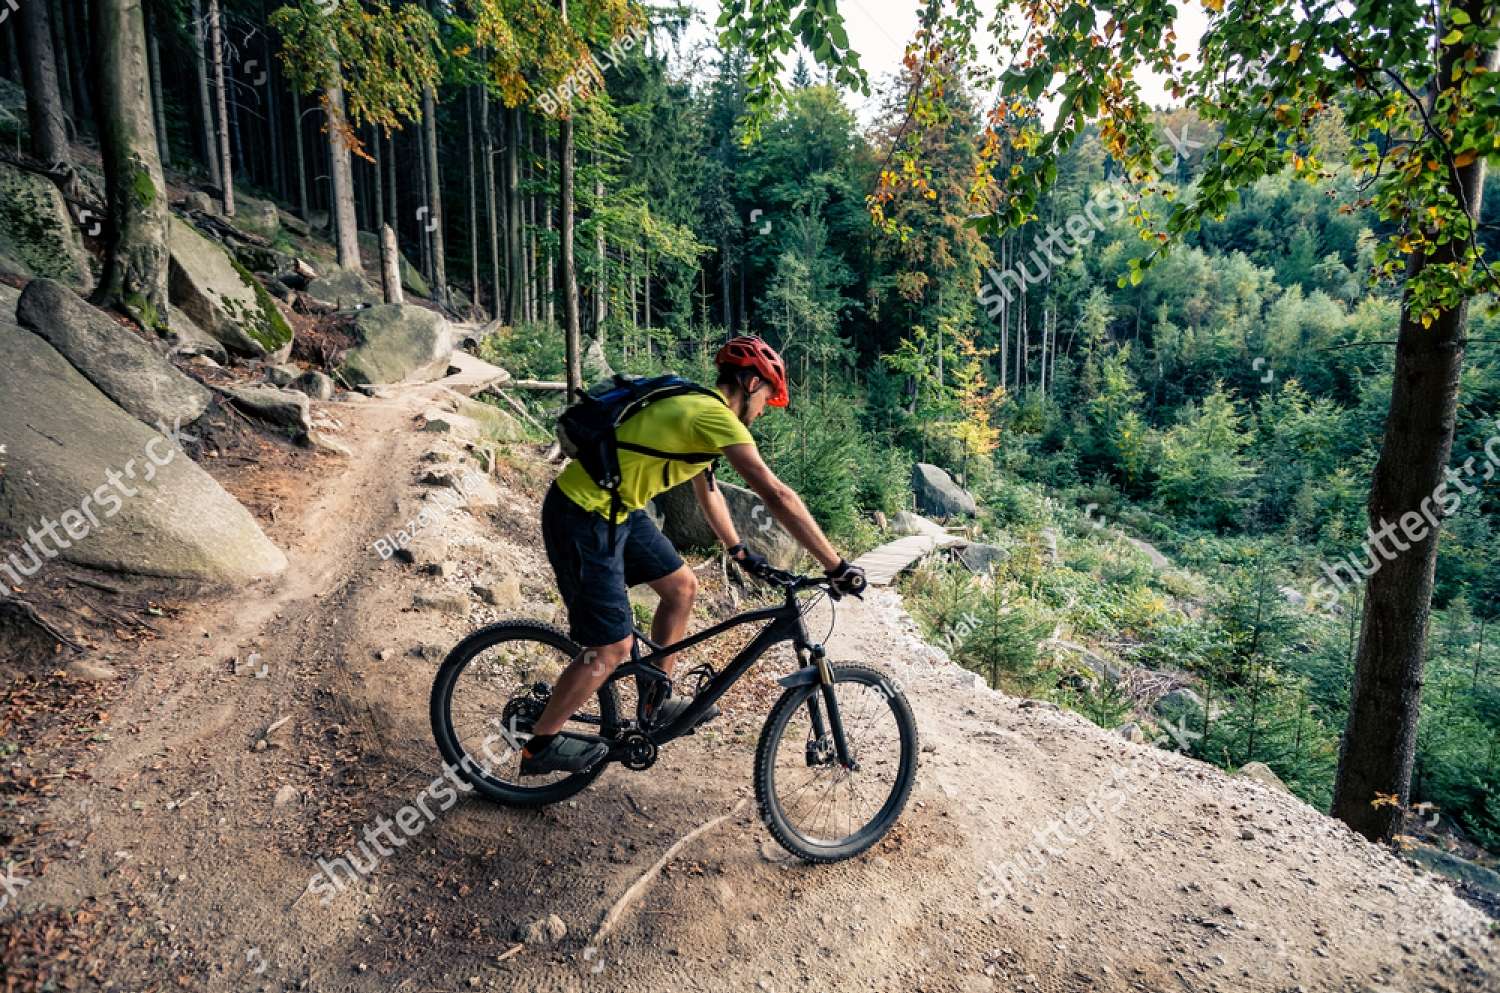
[[[40,6],[40,4],[38,4]],[[108,255],[96,302],[142,327],[166,326],[166,183],[156,158],[141,0],[100,0],[99,140],[110,208]]]

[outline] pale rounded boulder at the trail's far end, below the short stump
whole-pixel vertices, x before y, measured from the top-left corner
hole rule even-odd
[[[453,328],[441,314],[406,303],[382,303],[354,315],[358,344],[339,372],[350,386],[426,382],[447,375]]]

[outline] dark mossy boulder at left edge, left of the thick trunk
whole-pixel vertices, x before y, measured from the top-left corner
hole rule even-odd
[[[92,258],[57,184],[6,162],[0,162],[0,256],[10,260],[6,270],[24,270],[16,274],[93,290]]]

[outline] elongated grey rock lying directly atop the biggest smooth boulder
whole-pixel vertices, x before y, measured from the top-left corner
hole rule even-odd
[[[147,424],[190,424],[208,408],[208,390],[60,282],[33,279],[16,304],[16,318]]]

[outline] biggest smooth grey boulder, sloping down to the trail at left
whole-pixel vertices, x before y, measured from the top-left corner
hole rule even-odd
[[[32,332],[0,324],[0,574],[46,561],[210,584],[244,584],[286,556],[232,496],[100,393]],[[10,576],[14,570],[18,576]]]

